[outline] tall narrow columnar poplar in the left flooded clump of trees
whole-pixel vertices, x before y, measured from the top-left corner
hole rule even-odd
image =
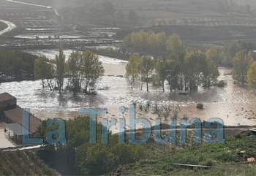
[[[59,55],[55,56],[56,60],[56,78],[58,80],[58,86],[59,86],[59,93],[61,93],[61,90],[63,88],[63,82],[64,82],[64,74],[65,74],[65,58],[66,56],[63,53],[63,47],[59,47]]]

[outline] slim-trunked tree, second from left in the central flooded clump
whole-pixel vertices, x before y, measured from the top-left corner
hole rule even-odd
[[[154,58],[151,56],[142,56],[140,70],[143,77],[143,80],[146,82],[147,91],[148,91],[148,83],[150,82],[150,76],[154,71]]]

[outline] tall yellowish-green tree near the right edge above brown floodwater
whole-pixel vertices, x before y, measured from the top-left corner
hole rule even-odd
[[[247,72],[252,61],[252,51],[247,53],[246,50],[239,51],[233,58],[233,79],[239,84],[244,85],[246,83]]]

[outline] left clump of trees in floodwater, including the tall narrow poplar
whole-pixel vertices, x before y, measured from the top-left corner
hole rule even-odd
[[[59,93],[63,90],[64,77],[69,80],[68,88],[74,94],[81,91],[89,93],[96,86],[97,80],[104,74],[99,57],[89,50],[84,52],[73,51],[66,61],[63,48],[59,48],[59,55],[53,61],[45,56],[39,56],[34,62],[34,76],[36,79],[47,80],[50,90],[53,88],[49,80],[55,78]]]

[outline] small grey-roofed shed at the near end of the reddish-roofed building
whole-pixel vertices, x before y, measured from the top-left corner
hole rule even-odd
[[[20,126],[19,123],[8,123],[6,127],[9,129],[10,138],[19,143],[23,143],[23,134],[30,134],[29,131],[23,126]],[[12,133],[10,133],[11,131]]]

